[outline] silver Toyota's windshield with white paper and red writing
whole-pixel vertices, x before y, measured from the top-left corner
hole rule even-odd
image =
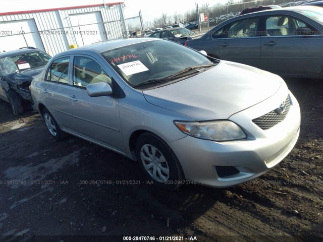
[[[212,64],[206,56],[167,40],[136,43],[102,54],[132,86],[165,79],[190,67]]]

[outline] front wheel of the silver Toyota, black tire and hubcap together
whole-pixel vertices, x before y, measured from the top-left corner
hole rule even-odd
[[[173,150],[152,133],[142,134],[136,142],[140,168],[153,184],[165,190],[175,190],[184,179],[183,170]]]

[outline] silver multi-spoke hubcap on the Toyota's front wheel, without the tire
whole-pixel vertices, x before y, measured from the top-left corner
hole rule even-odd
[[[165,183],[170,177],[170,168],[164,155],[152,145],[143,145],[140,151],[143,167],[159,183]]]

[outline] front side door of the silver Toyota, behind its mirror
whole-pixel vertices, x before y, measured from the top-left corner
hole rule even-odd
[[[124,152],[120,132],[119,99],[112,96],[90,97],[89,84],[106,82],[111,78],[99,62],[89,56],[74,56],[73,86],[69,91],[73,115],[71,131],[96,143]]]

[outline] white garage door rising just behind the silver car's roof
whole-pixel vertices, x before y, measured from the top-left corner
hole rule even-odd
[[[70,15],[77,45],[83,46],[105,40],[101,13],[91,12]],[[79,26],[82,25],[82,26]]]

